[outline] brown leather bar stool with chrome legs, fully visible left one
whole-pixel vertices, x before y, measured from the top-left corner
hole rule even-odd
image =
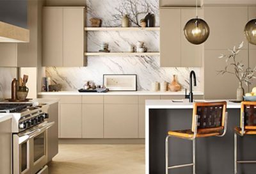
[[[166,137],[166,174],[170,169],[193,166],[196,171],[196,138],[210,136],[224,136],[227,131],[227,102],[194,103],[191,130],[169,131]],[[193,163],[179,166],[168,164],[168,140],[170,137],[188,139],[193,141]]]

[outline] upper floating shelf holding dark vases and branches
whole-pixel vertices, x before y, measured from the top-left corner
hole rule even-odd
[[[139,27],[131,27],[131,28],[114,28],[114,27],[100,27],[100,28],[84,28],[85,31],[160,31],[159,27],[154,28],[139,28]]]

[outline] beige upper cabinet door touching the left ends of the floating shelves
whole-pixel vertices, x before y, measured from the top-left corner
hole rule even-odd
[[[84,8],[63,8],[63,67],[83,67]]]

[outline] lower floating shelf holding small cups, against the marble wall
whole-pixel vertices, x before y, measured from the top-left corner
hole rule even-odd
[[[160,56],[160,52],[85,52],[84,56]]]

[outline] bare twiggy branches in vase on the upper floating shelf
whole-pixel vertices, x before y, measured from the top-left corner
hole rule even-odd
[[[139,9],[138,7],[143,7],[143,9]],[[142,14],[150,12],[150,4],[147,1],[124,0],[122,1],[122,6],[116,8],[116,11],[118,14],[113,15],[113,20],[120,21],[124,15],[128,15],[131,23],[140,27],[139,17]]]

